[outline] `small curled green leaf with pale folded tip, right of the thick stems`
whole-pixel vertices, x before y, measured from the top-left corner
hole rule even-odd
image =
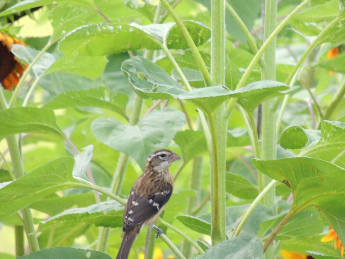
[[[303,148],[314,145],[320,138],[320,131],[306,130],[299,125],[290,125],[280,135],[279,144],[283,148]]]

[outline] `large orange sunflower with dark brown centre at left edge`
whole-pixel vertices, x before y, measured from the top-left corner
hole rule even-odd
[[[25,66],[11,52],[13,44],[26,45],[24,42],[0,31],[0,82],[3,88],[10,91],[19,82]]]

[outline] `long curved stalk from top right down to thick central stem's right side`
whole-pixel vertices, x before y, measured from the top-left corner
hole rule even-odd
[[[296,13],[301,10],[307,3],[309,3],[312,0],[304,0],[302,3],[300,3],[292,12],[289,13],[289,15],[277,26],[277,28],[272,32],[272,34],[267,38],[263,46],[259,49],[259,51],[256,53],[252,61],[250,62],[249,66],[246,69],[246,72],[243,74],[241,80],[238,82],[238,85],[236,89],[239,89],[243,86],[245,86],[250,74],[252,73],[255,65],[260,60],[261,56],[264,54],[267,47],[271,44],[271,42],[276,38],[278,33],[284,29],[284,27],[288,24],[290,19],[296,15]],[[229,103],[226,107],[225,117],[230,117],[231,112],[234,108],[234,105],[237,101],[237,98],[230,98]]]

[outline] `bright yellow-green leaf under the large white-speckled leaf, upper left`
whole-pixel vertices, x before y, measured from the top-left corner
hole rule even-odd
[[[46,74],[61,72],[96,79],[103,74],[106,64],[105,57],[78,57],[69,60],[61,57],[49,67]]]

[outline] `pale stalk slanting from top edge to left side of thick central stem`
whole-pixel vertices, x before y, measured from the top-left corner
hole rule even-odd
[[[166,0],[160,0],[160,2],[163,4],[163,6],[167,9],[167,11],[169,12],[170,16],[172,17],[172,19],[174,19],[174,21],[176,22],[176,25],[179,27],[179,29],[181,30],[184,38],[187,41],[187,44],[190,48],[190,50],[193,53],[193,56],[196,60],[196,63],[198,64],[198,67],[201,71],[201,74],[203,75],[204,81],[206,83],[206,86],[212,86],[213,82],[211,79],[210,74],[208,73],[207,67],[204,63],[203,58],[200,55],[200,52],[198,51],[198,48],[196,47],[193,39],[190,37],[185,25],[183,24],[183,22],[181,21],[181,19],[178,17],[177,13],[175,12],[174,9],[172,9],[172,7],[170,6],[170,4],[166,1]]]

